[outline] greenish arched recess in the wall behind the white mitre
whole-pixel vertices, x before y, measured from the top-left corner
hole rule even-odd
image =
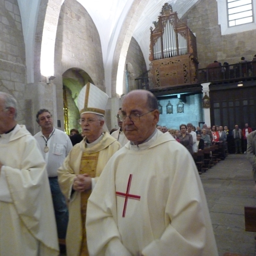
[[[77,97],[87,82],[92,84],[90,76],[80,68],[70,68],[62,74],[64,100],[64,129],[69,134],[70,129],[81,130],[77,120],[80,118],[77,108]],[[81,131],[80,131],[81,132]]]

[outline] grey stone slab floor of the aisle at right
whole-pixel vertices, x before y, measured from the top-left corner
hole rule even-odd
[[[256,233],[244,231],[244,206],[256,206],[252,166],[246,154],[228,155],[203,173],[201,180],[219,256],[255,256]]]

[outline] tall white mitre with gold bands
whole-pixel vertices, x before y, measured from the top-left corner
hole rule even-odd
[[[80,114],[95,113],[104,116],[107,103],[108,95],[91,83],[84,85],[77,99]]]

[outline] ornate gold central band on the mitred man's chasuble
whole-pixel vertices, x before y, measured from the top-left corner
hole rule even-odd
[[[98,163],[99,152],[88,154],[83,152],[81,157],[80,172],[79,174],[87,174],[89,177],[96,177],[96,167]],[[82,244],[80,256],[89,256],[87,250],[87,241],[86,241],[86,230],[85,230],[85,219],[86,219],[86,209],[87,209],[87,200],[91,194],[91,189],[88,189],[84,192],[81,192],[81,218],[82,218]]]

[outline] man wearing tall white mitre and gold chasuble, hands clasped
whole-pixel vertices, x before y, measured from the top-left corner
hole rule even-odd
[[[85,219],[87,200],[109,158],[121,147],[104,129],[108,95],[87,83],[78,96],[84,139],[76,144],[61,168],[58,181],[69,209],[67,256],[88,256]]]

